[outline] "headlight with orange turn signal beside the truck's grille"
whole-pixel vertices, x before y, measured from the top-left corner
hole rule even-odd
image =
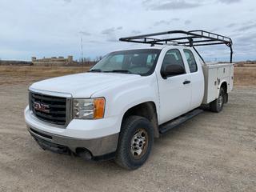
[[[74,118],[98,119],[104,117],[105,98],[75,98]]]

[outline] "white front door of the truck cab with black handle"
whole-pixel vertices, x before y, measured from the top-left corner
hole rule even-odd
[[[163,50],[162,50],[163,51]],[[158,89],[160,103],[159,123],[168,122],[190,110],[191,77],[186,62],[183,61],[182,50],[170,49],[162,53],[162,65],[158,66]],[[163,56],[164,54],[164,56]],[[159,62],[161,60],[159,59]],[[184,74],[163,78],[161,70],[168,65],[180,65],[185,68]]]

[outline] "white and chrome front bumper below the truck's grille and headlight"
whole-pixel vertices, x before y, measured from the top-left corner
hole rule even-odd
[[[60,128],[33,117],[28,107],[24,113],[28,131],[43,149],[60,154],[78,154],[78,150],[86,149],[92,157],[113,154],[117,150],[118,118],[106,118],[105,122],[72,120],[66,128]]]

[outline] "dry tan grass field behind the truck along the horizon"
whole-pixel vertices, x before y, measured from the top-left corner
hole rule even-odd
[[[0,84],[34,82],[44,78],[77,74],[89,70],[89,66],[0,66]],[[10,82],[10,76],[13,77]],[[256,86],[256,67],[234,68],[234,85]]]

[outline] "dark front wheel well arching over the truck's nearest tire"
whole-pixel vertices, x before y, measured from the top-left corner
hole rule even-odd
[[[159,137],[158,114],[154,102],[143,102],[137,106],[131,107],[123,115],[122,121],[131,115],[138,115],[143,118],[147,118],[154,126],[154,137]]]

